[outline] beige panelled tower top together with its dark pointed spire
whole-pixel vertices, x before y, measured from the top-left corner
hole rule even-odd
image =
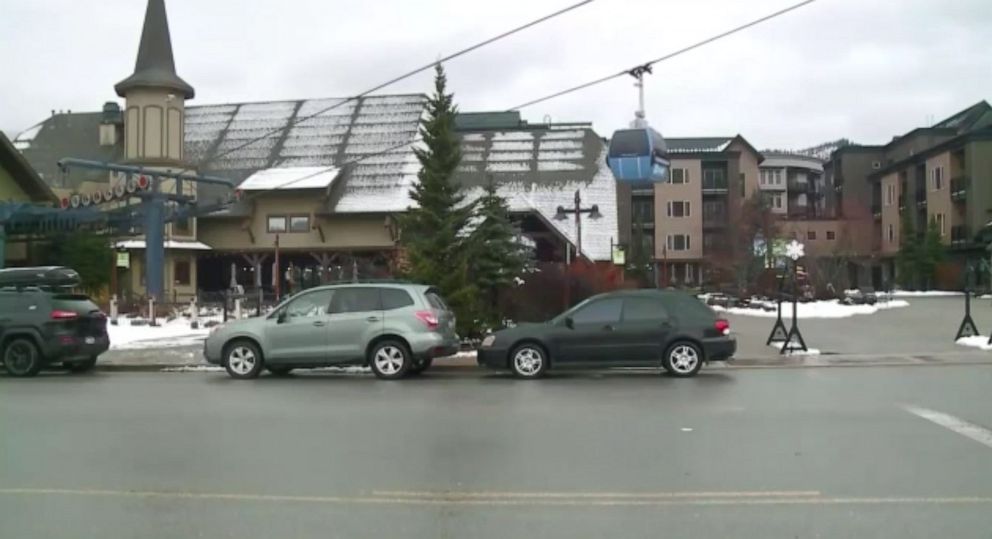
[[[148,0],[134,73],[114,90],[126,101],[125,159],[142,165],[182,164],[185,103],[195,92],[176,74],[165,0]]]

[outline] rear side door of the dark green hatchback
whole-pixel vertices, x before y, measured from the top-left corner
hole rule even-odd
[[[661,361],[672,324],[659,298],[627,297],[616,334],[620,341],[615,357],[625,364]]]

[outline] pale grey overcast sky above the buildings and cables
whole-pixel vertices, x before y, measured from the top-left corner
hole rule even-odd
[[[450,62],[464,111],[502,110],[661,56],[796,0],[597,0]],[[758,147],[885,142],[992,93],[989,0],[817,0],[656,66],[667,136]],[[352,95],[573,0],[166,0],[190,104]],[[0,0],[0,129],[99,110],[131,73],[145,0]],[[430,74],[386,90],[427,92]],[[524,109],[626,125],[632,79]]]

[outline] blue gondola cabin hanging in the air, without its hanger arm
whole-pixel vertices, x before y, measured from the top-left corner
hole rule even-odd
[[[621,129],[613,133],[606,164],[617,181],[631,184],[668,181],[665,139],[650,127]]]

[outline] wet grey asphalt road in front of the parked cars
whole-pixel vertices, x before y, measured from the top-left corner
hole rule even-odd
[[[990,389],[988,365],[0,377],[0,537],[989,538]]]

